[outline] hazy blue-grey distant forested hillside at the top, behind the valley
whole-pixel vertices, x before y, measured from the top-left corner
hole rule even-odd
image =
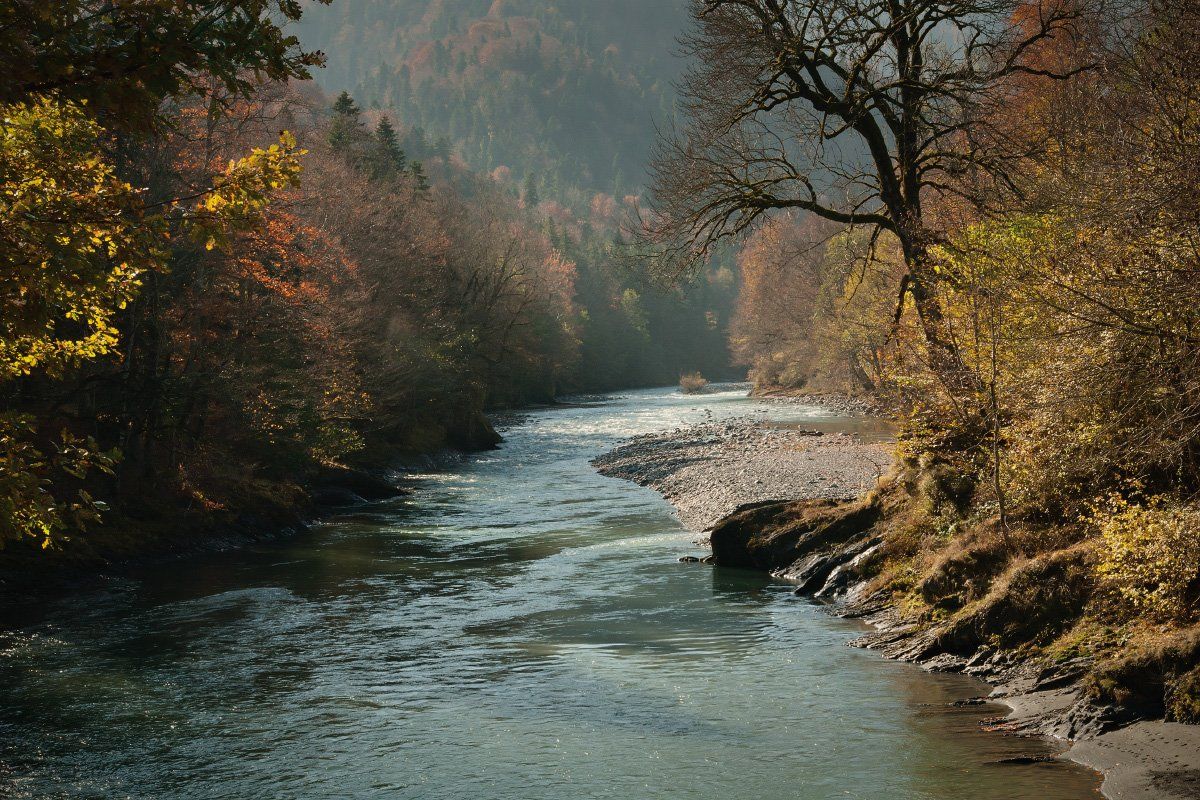
[[[685,5],[349,0],[313,4],[299,34],[328,55],[322,85],[446,137],[474,169],[533,175],[542,197],[622,197],[673,113]]]

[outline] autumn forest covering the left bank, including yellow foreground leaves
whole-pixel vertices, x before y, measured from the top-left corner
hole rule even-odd
[[[728,374],[727,266],[664,290],[618,254],[635,194],[325,94],[300,4],[6,6],[10,557],[286,524],[347,469],[493,446],[488,409]]]

